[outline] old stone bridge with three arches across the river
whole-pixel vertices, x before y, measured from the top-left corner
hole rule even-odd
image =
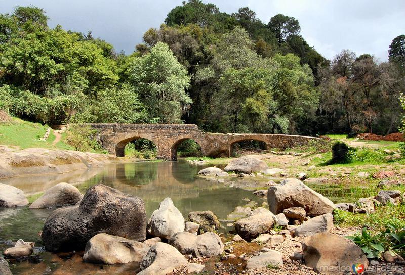
[[[236,134],[205,133],[194,124],[80,124],[96,129],[103,148],[117,157],[124,156],[125,145],[136,139],[148,139],[157,148],[157,158],[177,160],[177,147],[185,140],[192,139],[201,147],[204,156],[229,157],[233,144],[255,140],[264,142],[267,149],[288,148],[308,143],[309,136],[286,134]]]

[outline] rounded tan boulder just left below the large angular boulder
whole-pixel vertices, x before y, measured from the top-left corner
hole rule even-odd
[[[260,234],[268,232],[274,224],[273,213],[267,209],[261,209],[263,210],[257,211],[257,214],[235,222],[236,233],[247,241],[251,241]]]

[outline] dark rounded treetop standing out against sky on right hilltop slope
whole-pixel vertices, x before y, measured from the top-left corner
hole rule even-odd
[[[298,35],[301,27],[300,23],[294,17],[277,14],[270,19],[268,24],[270,30],[275,33],[278,44],[281,45],[291,35]]]

